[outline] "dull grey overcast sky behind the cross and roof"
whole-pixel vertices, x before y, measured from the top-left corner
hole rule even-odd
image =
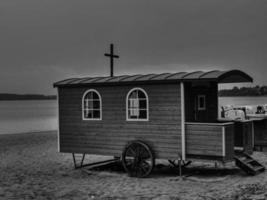
[[[266,0],[1,0],[0,93],[69,77],[241,69],[267,85]]]

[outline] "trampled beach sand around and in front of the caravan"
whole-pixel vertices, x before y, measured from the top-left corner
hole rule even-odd
[[[253,157],[267,166],[266,152]],[[193,163],[181,178],[160,166],[144,179],[110,168],[86,174],[73,169],[71,154],[57,152],[56,132],[0,135],[0,199],[267,199],[267,172]]]

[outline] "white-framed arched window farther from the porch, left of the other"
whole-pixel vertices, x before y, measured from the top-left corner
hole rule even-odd
[[[99,92],[94,89],[87,90],[82,100],[83,120],[101,120],[102,102]]]

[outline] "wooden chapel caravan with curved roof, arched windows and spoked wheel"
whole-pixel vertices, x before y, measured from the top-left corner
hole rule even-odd
[[[59,151],[119,157],[138,177],[155,159],[232,161],[237,128],[217,120],[218,84],[236,82],[252,78],[216,70],[59,81]]]

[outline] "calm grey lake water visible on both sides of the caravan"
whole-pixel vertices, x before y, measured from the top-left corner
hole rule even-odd
[[[267,97],[221,97],[219,105],[267,104]],[[57,101],[0,101],[0,134],[57,129]]]

